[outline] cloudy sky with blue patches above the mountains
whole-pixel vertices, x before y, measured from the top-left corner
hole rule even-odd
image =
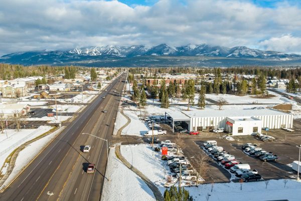
[[[0,0],[0,5],[0,55],[162,43],[301,54],[298,0]]]

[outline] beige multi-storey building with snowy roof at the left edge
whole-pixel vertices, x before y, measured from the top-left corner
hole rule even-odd
[[[23,97],[27,96],[27,85],[24,84],[5,84],[0,87],[2,91],[2,97]]]

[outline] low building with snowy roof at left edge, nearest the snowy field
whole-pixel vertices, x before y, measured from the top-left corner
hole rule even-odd
[[[0,105],[0,115],[11,117],[13,115],[26,115],[30,111],[27,104],[2,104]]]

